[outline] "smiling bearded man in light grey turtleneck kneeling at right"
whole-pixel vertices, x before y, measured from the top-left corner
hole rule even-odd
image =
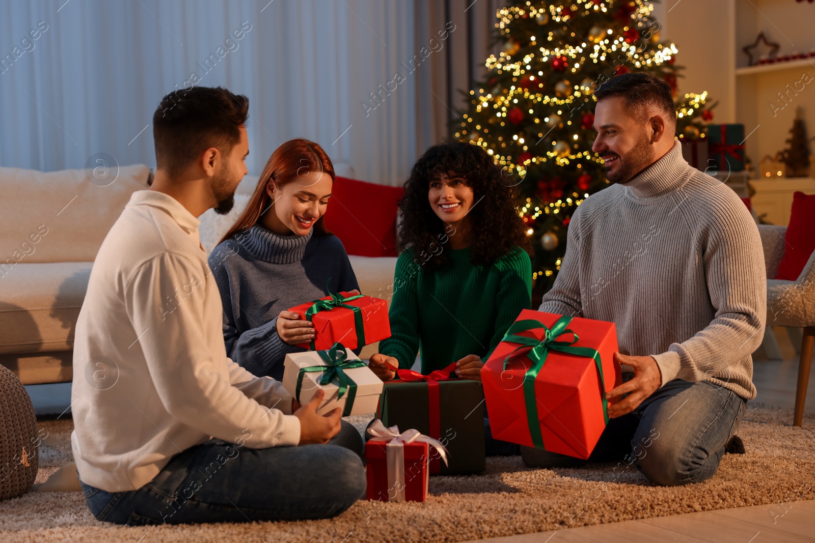
[[[589,462],[634,465],[657,484],[716,473],[746,402],[764,335],[761,240],[733,190],[682,159],[664,81],[628,73],[595,94],[593,151],[615,184],[571,218],[540,311],[615,322],[624,375]],[[525,461],[557,463],[525,449]],[[615,468],[617,470],[618,468]]]

